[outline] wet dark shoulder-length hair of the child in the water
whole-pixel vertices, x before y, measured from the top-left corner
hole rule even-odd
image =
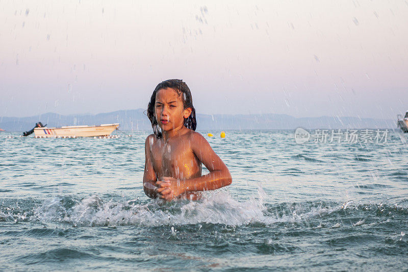
[[[188,129],[194,130],[197,127],[197,121],[195,119],[195,109],[193,106],[193,97],[191,96],[191,92],[189,87],[183,80],[180,79],[169,79],[163,82],[160,82],[150,97],[149,105],[147,106],[147,117],[151,122],[151,127],[153,128],[153,132],[156,135],[156,138],[161,138],[163,133],[159,127],[157,119],[155,117],[155,104],[156,104],[156,95],[157,92],[161,89],[171,88],[175,90],[179,95],[182,95],[182,101],[184,109],[191,108],[191,114],[189,117],[184,118],[184,126]]]

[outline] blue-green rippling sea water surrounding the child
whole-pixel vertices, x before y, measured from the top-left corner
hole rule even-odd
[[[297,144],[294,131],[208,132],[232,185],[171,203],[143,192],[150,132],[0,133],[0,270],[408,268],[406,134]]]

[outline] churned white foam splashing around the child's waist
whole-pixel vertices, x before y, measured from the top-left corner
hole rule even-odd
[[[65,208],[61,197],[45,201],[34,212],[34,219],[59,221],[73,226],[172,226],[189,224],[223,224],[239,226],[246,224],[273,224],[294,222],[333,212],[326,208],[304,211],[294,207],[287,214],[269,214],[264,203],[265,192],[259,189],[257,197],[238,202],[227,191],[206,192],[200,201],[161,200],[141,204],[138,200],[104,202],[97,195],[84,198],[70,208]]]

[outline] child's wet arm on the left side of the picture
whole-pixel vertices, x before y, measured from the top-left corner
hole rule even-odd
[[[157,181],[157,175],[155,169],[153,168],[153,163],[151,161],[151,148],[150,145],[154,141],[155,135],[149,135],[144,143],[144,174],[143,174],[143,190],[144,193],[151,199],[157,197],[157,187],[155,186]]]

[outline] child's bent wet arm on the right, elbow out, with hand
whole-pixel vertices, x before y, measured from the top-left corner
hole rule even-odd
[[[168,178],[168,181],[158,181],[157,185],[161,187],[158,189],[158,192],[162,194],[161,198],[171,200],[174,196],[186,192],[215,190],[232,183],[230,171],[201,134],[193,133],[191,148],[210,173],[188,180],[176,181]]]

